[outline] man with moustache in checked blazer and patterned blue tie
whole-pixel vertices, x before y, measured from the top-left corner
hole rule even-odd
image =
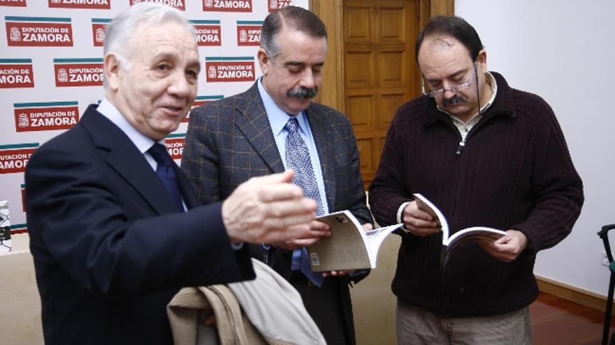
[[[293,169],[294,183],[318,213],[350,210],[366,229],[372,217],[359,153],[346,116],[312,102],[321,84],[326,29],[308,10],[289,6],[266,17],[258,59],[263,77],[238,95],[191,112],[182,169],[205,203],[226,199],[248,178]],[[312,222],[314,229],[327,229]],[[348,272],[305,270],[305,246],[318,238],[264,242],[254,256],[301,293],[328,344],[354,344]],[[303,261],[303,263],[302,263]]]

